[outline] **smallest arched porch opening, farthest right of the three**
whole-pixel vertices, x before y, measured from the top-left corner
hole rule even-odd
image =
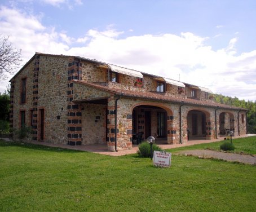
[[[235,119],[232,113],[222,112],[219,114],[219,135],[226,135],[226,130],[235,131]]]

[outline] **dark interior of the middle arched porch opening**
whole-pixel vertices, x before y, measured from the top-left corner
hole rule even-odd
[[[205,112],[196,109],[189,111],[187,116],[188,140],[206,139],[207,125]]]

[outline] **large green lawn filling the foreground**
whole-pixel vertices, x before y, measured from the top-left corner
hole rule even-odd
[[[0,211],[255,211],[255,176],[218,160],[173,155],[161,169],[135,154],[0,141]]]

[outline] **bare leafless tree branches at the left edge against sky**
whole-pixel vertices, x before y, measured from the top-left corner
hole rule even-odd
[[[6,74],[13,74],[21,63],[21,50],[17,50],[8,42],[9,37],[0,36],[0,79],[5,80]]]

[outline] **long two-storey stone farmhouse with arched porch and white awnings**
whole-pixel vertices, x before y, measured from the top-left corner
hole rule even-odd
[[[167,144],[246,134],[246,109],[209,89],[80,56],[36,52],[10,82],[10,126],[31,126],[38,142],[119,151],[138,132]]]

